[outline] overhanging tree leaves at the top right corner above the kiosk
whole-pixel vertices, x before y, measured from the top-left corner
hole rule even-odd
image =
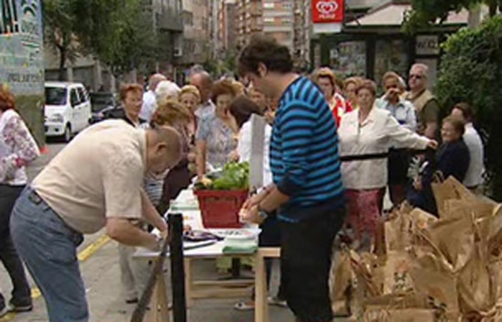
[[[462,9],[472,9],[480,4],[490,8],[493,16],[502,0],[412,0],[412,11],[404,19],[403,29],[408,34],[430,28],[434,24],[442,24],[450,12],[460,12]]]

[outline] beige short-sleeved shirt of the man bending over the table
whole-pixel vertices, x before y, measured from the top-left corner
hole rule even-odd
[[[94,233],[107,217],[142,217],[145,171],[145,131],[110,120],[77,135],[32,187],[70,227]]]

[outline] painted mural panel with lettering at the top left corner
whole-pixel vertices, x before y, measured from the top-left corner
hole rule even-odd
[[[43,143],[44,57],[40,0],[0,0],[0,82]]]

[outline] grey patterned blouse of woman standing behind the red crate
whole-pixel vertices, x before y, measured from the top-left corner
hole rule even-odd
[[[206,142],[206,162],[214,169],[222,168],[236,147],[232,130],[214,114],[200,120],[196,138]]]

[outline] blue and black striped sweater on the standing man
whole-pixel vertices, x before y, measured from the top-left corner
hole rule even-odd
[[[344,203],[335,120],[321,90],[299,77],[279,101],[270,143],[274,183],[290,200],[279,218],[298,222]]]

